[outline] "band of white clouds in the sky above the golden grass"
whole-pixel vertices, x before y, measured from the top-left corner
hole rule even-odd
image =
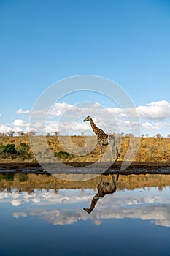
[[[20,108],[17,112],[28,113],[28,111]],[[104,108],[98,102],[87,102],[84,105],[55,103],[49,113],[47,110],[35,111],[34,124],[31,124],[30,129],[37,134],[53,133],[58,130],[61,135],[80,135],[82,131],[85,135],[93,135],[90,124],[83,122],[88,115],[92,116],[96,125],[107,133],[130,132],[137,135],[139,123],[135,118],[139,115],[141,134],[145,132],[150,135],[155,135],[155,132],[162,135],[169,134],[170,103],[165,100],[140,105],[134,109]],[[28,122],[15,119],[12,124],[2,124],[0,132],[9,132],[11,129],[15,132],[20,130],[28,132],[28,127]]]

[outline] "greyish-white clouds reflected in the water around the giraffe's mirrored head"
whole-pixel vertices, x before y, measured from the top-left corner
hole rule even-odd
[[[83,194],[79,189],[73,189],[73,191],[71,189],[59,190],[57,195],[54,195],[52,191],[42,191],[41,193],[36,191],[31,195],[23,192],[18,199],[14,199],[15,196],[7,198],[4,195],[4,200],[2,201],[8,201],[12,206],[19,206],[22,203],[36,204],[36,209],[15,212],[13,216],[16,218],[28,215],[40,216],[53,225],[70,225],[74,222],[88,219],[91,219],[96,225],[100,225],[104,219],[132,218],[151,220],[155,225],[170,227],[170,200],[169,197],[166,197],[167,191],[163,194],[163,191],[159,192],[158,189],[150,189],[148,191],[145,189],[142,194],[136,190],[123,190],[114,195],[106,195],[98,200],[95,209],[90,215],[83,211],[82,207],[90,206],[90,202],[96,194],[93,189],[85,189]],[[57,204],[62,204],[62,208],[51,209],[52,205],[56,206]],[[48,206],[50,206],[50,211]]]

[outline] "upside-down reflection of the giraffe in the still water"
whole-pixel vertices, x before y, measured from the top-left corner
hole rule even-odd
[[[119,174],[113,174],[110,178],[109,182],[104,182],[103,175],[101,175],[101,181],[98,184],[98,192],[91,200],[90,208],[83,208],[83,210],[87,211],[90,214],[96,206],[96,203],[100,198],[103,198],[106,194],[114,194],[117,190],[117,181],[119,178]]]

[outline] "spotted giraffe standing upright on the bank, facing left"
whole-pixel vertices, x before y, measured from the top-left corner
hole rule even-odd
[[[108,135],[102,129],[96,127],[96,124],[93,122],[93,119],[90,116],[87,116],[83,121],[90,121],[91,128],[93,132],[97,135],[98,145],[100,146],[100,155],[103,151],[103,146],[109,145],[112,148],[112,153],[116,151],[116,160],[117,157],[120,157],[118,148],[115,142],[114,135]]]

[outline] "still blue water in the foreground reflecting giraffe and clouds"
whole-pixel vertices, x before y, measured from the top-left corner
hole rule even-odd
[[[170,175],[0,174],[1,255],[170,255]]]

